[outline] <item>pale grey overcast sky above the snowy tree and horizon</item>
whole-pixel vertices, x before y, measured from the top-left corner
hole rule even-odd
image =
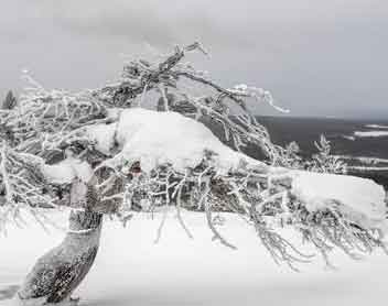
[[[294,116],[388,118],[386,0],[2,0],[0,95],[24,68],[46,87],[98,87],[130,56],[194,40],[212,54],[198,67]]]

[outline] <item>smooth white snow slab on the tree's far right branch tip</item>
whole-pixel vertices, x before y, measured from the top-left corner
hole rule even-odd
[[[291,192],[310,211],[338,207],[365,226],[386,219],[386,192],[371,179],[295,171]]]

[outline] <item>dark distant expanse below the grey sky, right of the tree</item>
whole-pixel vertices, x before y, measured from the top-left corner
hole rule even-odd
[[[368,128],[368,124],[388,127],[387,121],[371,120],[342,120],[323,118],[289,118],[289,117],[258,117],[258,121],[270,132],[273,143],[285,145],[297,141],[301,154],[311,156],[316,153],[314,141],[324,134],[331,141],[333,154],[354,157],[375,157],[387,160],[387,163],[368,164],[365,162],[347,161],[351,165],[388,167],[388,135],[379,138],[354,138],[355,131],[386,131],[382,128]],[[211,127],[218,136],[218,129]],[[256,147],[246,147],[246,153],[252,157],[261,159]],[[388,188],[388,171],[351,171],[349,174],[373,178]]]

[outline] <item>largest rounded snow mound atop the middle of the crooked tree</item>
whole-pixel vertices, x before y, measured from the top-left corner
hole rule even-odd
[[[105,129],[107,128],[107,129]],[[118,123],[97,125],[87,130],[101,152],[112,149],[116,138],[122,147],[120,159],[140,161],[141,168],[151,171],[157,165],[170,163],[176,171],[198,165],[208,150],[217,155],[214,161],[220,173],[239,165],[241,160],[262,165],[224,145],[201,122],[176,112],[158,112],[143,108],[125,109]]]

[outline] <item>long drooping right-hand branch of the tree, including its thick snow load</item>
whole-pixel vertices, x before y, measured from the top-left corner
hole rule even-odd
[[[105,152],[115,150],[107,145],[114,135],[121,147],[97,170],[110,173],[98,186],[105,200],[118,201],[120,216],[169,206],[203,210],[214,238],[234,248],[212,217],[212,211],[234,211],[256,228],[277,261],[292,267],[306,258],[277,227],[293,227],[325,259],[334,247],[353,258],[385,248],[380,236],[385,192],[371,181],[267,166],[225,146],[203,124],[173,112],[123,110],[115,129],[105,127],[105,133],[101,127],[90,127],[87,134]],[[122,190],[117,185],[120,177],[129,182]]]

